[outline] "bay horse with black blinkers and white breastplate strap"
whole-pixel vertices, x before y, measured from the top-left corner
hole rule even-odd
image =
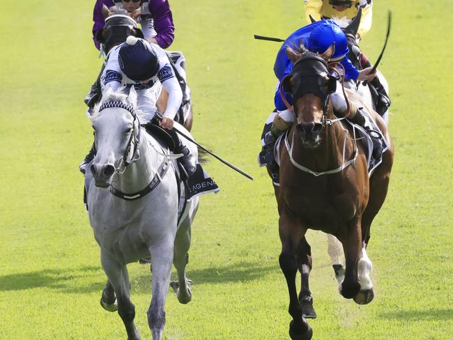
[[[312,338],[305,319],[312,312],[309,291],[312,270],[307,229],[335,235],[344,249],[346,272],[339,279],[339,292],[356,303],[367,304],[374,296],[367,256],[369,229],[380,210],[390,180],[393,146],[382,118],[372,112],[390,144],[381,165],[369,177],[367,157],[354,130],[335,118],[329,105],[328,63],[332,45],[321,55],[305,49],[301,53],[286,49],[293,70],[283,86],[293,96],[295,123],[279,146],[279,187],[274,185],[279,212],[282,252],[279,265],[289,290],[291,339]],[[270,169],[268,169],[270,171]],[[299,295],[295,285],[301,274]]]

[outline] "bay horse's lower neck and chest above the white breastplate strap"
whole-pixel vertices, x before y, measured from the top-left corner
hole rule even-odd
[[[345,129],[341,122],[324,127],[323,132],[321,132],[321,144],[317,148],[312,149],[303,146],[302,139],[298,137],[295,128],[293,128],[289,139],[293,142],[293,157],[296,162],[318,172],[340,167],[343,163]],[[346,161],[353,155],[353,148],[351,138],[346,138],[346,150],[344,153]]]

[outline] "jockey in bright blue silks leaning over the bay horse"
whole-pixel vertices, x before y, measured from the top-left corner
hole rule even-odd
[[[369,74],[371,67],[360,71],[354,67],[347,56],[349,49],[346,36],[343,31],[341,31],[340,26],[335,24],[332,20],[314,22],[292,33],[291,36],[284,41],[282,47],[280,47],[274,64],[275,76],[278,78],[277,91],[275,92],[274,98],[277,114],[274,117],[271,130],[268,134],[266,134],[264,140],[266,159],[268,165],[272,168],[275,168],[276,166],[273,159],[275,141],[281,134],[291,127],[295,121],[295,114],[288,107],[286,107],[282,94],[279,91],[280,83],[283,81],[284,77],[291,74],[291,71],[293,70],[293,63],[289,59],[289,56],[286,55],[286,48],[291,47],[291,49],[298,51],[300,49],[300,45],[304,45],[310,52],[323,54],[323,52],[325,52],[332,44],[335,44],[335,51],[330,57],[329,62],[341,63],[344,67],[346,78],[360,81],[371,81],[374,77],[376,77],[376,71]],[[332,101],[335,113],[339,116],[344,116],[347,111],[346,99],[341,91],[341,85],[337,85],[337,90],[335,93],[330,95],[330,100]],[[283,91],[283,95],[287,104],[292,105],[293,98],[291,97],[291,94]],[[350,104],[351,111],[348,116],[348,120],[364,127],[365,118],[360,111],[360,108],[356,107],[353,102]],[[376,144],[376,153],[380,152],[378,149],[379,145],[382,149],[382,141],[380,139],[372,139],[374,144]]]

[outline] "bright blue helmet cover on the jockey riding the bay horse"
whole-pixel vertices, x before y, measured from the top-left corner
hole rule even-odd
[[[323,22],[319,24],[310,34],[307,48],[311,52],[323,53],[335,43],[335,52],[330,58],[331,61],[339,61],[348,54],[348,40],[340,26],[334,22]]]

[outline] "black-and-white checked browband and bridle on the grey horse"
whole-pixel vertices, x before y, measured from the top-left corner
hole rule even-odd
[[[121,157],[121,160],[123,161],[124,164],[124,169],[120,170],[119,168],[121,165],[118,165],[118,168],[115,169],[116,173],[123,173],[128,167],[128,165],[132,162],[135,162],[136,160],[139,160],[140,156],[135,156],[138,151],[139,151],[139,141],[140,141],[140,122],[139,122],[139,117],[137,117],[137,114],[135,114],[134,108],[128,104],[125,104],[124,102],[105,102],[99,107],[99,112],[102,111],[103,109],[111,109],[112,107],[119,107],[121,109],[125,109],[128,111],[134,120],[132,121],[132,132],[130,133],[129,141],[128,141],[128,146],[126,147],[125,153],[123,157]],[[137,121],[137,124],[136,124]],[[135,126],[137,125],[137,133],[135,133],[136,129]]]

